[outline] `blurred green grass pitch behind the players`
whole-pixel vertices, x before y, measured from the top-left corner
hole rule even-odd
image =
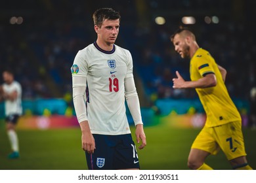
[[[135,140],[135,128],[131,127]],[[190,146],[200,129],[173,128],[159,124],[144,127],[147,146],[139,150],[140,168],[146,170],[187,170]],[[243,129],[247,160],[256,168],[256,131]],[[81,170],[87,169],[81,150],[79,128],[19,130],[20,158],[7,159],[10,145],[3,122],[0,125],[0,169],[7,170]],[[231,169],[219,152],[206,161],[213,169]]]

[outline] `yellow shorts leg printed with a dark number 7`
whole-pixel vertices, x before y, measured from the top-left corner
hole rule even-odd
[[[230,122],[215,130],[219,146],[228,160],[246,156],[241,122]]]

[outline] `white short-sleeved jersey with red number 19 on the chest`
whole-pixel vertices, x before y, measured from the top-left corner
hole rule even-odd
[[[125,78],[133,77],[131,53],[117,45],[106,52],[95,43],[79,50],[72,77],[86,76],[85,99],[91,133],[121,135],[131,133],[125,113]]]

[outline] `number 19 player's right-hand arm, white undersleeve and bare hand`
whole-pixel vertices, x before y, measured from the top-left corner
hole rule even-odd
[[[139,97],[133,77],[125,78],[125,98],[127,101],[128,108],[131,112],[131,116],[133,116],[133,121],[135,122],[135,135],[137,142],[139,143],[140,139],[142,141],[142,144],[140,144],[139,149],[142,149],[144,148],[144,146],[146,146],[146,135],[143,129],[143,123],[140,114]]]

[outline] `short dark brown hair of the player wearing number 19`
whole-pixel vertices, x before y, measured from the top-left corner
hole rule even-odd
[[[93,13],[93,22],[98,27],[101,27],[104,20],[120,20],[119,12],[112,8],[99,8]]]

